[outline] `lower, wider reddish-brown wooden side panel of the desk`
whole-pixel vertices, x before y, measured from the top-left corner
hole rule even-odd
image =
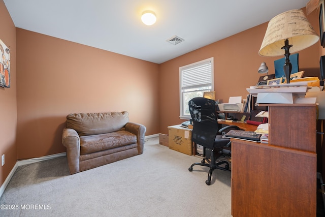
[[[233,216],[316,216],[315,171],[314,153],[234,140]]]

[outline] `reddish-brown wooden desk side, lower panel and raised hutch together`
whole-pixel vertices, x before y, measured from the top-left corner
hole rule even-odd
[[[232,139],[232,215],[316,216],[316,105],[269,104],[269,144]]]

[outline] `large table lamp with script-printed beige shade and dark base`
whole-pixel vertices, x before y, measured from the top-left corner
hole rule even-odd
[[[261,56],[280,56],[284,49],[285,63],[283,71],[286,82],[290,83],[292,65],[289,60],[291,52],[303,50],[318,41],[319,37],[300,9],[283,12],[272,18],[266,29],[261,49]]]

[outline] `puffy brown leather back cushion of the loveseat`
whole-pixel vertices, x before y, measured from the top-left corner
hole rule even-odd
[[[67,115],[67,128],[77,131],[79,136],[111,133],[124,130],[128,112],[74,113]]]

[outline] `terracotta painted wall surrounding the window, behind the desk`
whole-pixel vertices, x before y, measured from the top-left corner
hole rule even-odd
[[[317,33],[319,32],[318,13],[314,11],[307,17]],[[262,57],[258,55],[267,25],[268,22],[255,26],[159,65],[161,133],[168,133],[168,126],[184,121],[179,118],[179,67],[214,57],[216,99],[225,103],[228,102],[229,97],[246,98],[248,94],[246,88],[255,85],[259,77],[265,75],[257,73],[262,62],[265,61],[269,67],[269,74],[275,73],[274,60],[283,56]],[[319,56],[321,55],[319,47],[318,42],[299,52],[299,68],[305,71],[304,76],[319,75]]]

